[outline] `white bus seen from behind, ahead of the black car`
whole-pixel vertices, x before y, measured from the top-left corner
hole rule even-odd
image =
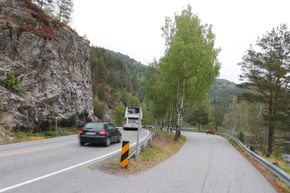
[[[125,117],[124,117],[124,130],[134,129],[137,130],[139,127],[142,127],[142,108],[141,107],[126,107]]]

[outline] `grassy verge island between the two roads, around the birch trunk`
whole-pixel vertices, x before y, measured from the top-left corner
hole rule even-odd
[[[105,160],[101,164],[91,165],[90,168],[116,175],[129,175],[145,171],[174,155],[186,140],[185,136],[181,136],[178,142],[173,141],[173,138],[174,133],[158,131],[152,143],[140,153],[139,160],[131,158],[127,168],[119,166],[120,156]]]

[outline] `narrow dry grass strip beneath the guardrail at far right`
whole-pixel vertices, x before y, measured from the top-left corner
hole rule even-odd
[[[264,176],[265,178],[272,184],[272,186],[276,189],[278,193],[290,193],[290,187],[287,186],[283,181],[281,181],[278,177],[272,174],[265,166],[260,164],[254,158],[252,158],[249,154],[242,150],[242,148],[233,140],[229,139],[229,143],[231,143],[249,162],[253,164]]]

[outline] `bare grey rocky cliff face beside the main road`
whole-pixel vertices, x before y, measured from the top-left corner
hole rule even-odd
[[[71,124],[93,114],[88,46],[30,0],[0,0],[0,136],[45,128],[55,116]],[[4,84],[9,72],[20,91]]]

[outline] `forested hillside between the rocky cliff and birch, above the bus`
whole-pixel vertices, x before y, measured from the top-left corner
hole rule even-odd
[[[121,53],[100,47],[90,48],[95,116],[112,120],[117,105],[140,105],[141,80],[146,66]]]

